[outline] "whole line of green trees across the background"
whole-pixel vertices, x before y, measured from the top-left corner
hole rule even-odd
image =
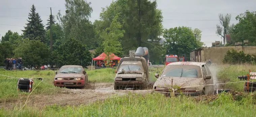
[[[88,66],[92,57],[102,52],[111,52],[123,57],[129,53],[129,50],[142,46],[149,48],[152,64],[159,64],[163,63],[165,54],[178,56],[185,54],[189,57],[190,51],[204,45],[201,42],[202,31],[197,28],[180,26],[164,29],[162,11],[157,9],[156,0],[114,1],[106,8],[102,8],[100,19],[93,23],[89,20],[93,12],[90,2],[84,0],[65,0],[65,2],[65,14],[59,11],[57,15],[50,15],[46,26],[36,12],[36,7],[32,5],[23,33],[19,35],[18,32],[8,30],[2,36],[0,60],[22,56],[25,66],[40,67],[45,64],[57,67]],[[247,23],[247,20],[255,22],[255,12],[249,14],[237,16],[239,23],[233,27],[228,23],[230,31],[227,32],[227,28],[224,28],[225,34],[232,33],[238,40],[243,39],[241,35],[249,33],[250,38],[256,36],[254,35],[256,29],[253,28],[255,23]],[[50,51],[50,21],[53,51]],[[226,26],[226,23],[224,24]],[[239,32],[243,31],[243,27],[248,27],[249,32],[246,34]],[[250,29],[254,29],[254,32]],[[220,30],[223,30],[222,27],[217,26],[218,33],[224,33]],[[160,36],[163,36],[164,42]],[[89,52],[90,49],[95,49],[96,53],[92,54]],[[3,66],[3,63],[0,63],[0,66]]]

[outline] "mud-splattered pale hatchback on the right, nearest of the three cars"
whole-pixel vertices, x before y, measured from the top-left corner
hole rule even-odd
[[[168,64],[158,78],[153,88],[154,92],[170,95],[183,93],[190,96],[213,94],[212,74],[205,63],[175,62]],[[176,85],[176,87],[174,87]],[[180,90],[178,87],[180,87]],[[167,89],[169,88],[169,89]]]

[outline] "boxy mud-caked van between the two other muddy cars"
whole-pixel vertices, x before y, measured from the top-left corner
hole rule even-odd
[[[144,57],[121,58],[114,79],[114,89],[141,88],[149,82],[148,64]]]

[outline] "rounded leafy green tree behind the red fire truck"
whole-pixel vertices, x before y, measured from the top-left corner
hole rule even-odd
[[[197,39],[195,42],[195,33]],[[166,39],[166,51],[168,54],[177,54],[181,56],[186,54],[189,57],[189,52],[195,48],[200,48],[202,42],[200,42],[201,31],[195,29],[194,31],[190,27],[175,27],[165,29],[163,37]]]

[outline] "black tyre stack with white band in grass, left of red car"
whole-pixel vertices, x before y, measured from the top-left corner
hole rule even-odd
[[[33,87],[33,79],[19,79],[17,83],[17,88],[20,91],[31,92]],[[31,89],[29,91],[29,89]]]

